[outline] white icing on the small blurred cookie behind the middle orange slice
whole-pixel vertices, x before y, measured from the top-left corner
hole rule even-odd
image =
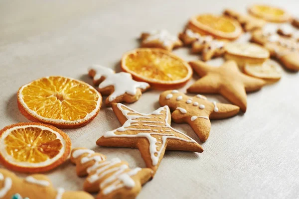
[[[148,43],[154,40],[161,41],[163,46],[167,47],[173,45],[178,38],[171,35],[167,30],[162,29],[149,32],[149,36],[143,42]]]

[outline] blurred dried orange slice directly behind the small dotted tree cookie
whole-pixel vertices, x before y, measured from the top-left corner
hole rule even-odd
[[[233,40],[242,33],[239,22],[227,16],[200,14],[189,20],[188,28],[201,35],[210,34],[218,39]]]

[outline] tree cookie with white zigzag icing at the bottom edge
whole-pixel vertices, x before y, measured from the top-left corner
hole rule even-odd
[[[100,153],[86,148],[75,148],[71,161],[78,176],[87,176],[84,191],[99,192],[97,199],[135,199],[142,186],[152,178],[151,169],[130,169],[119,158],[106,160]]]

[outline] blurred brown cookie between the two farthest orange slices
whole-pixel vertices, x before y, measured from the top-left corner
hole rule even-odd
[[[246,32],[257,30],[257,29],[262,29],[266,24],[266,21],[263,19],[259,19],[254,16],[248,15],[248,14],[241,14],[232,9],[224,10],[223,14],[233,17],[237,21],[239,21],[239,23],[243,27],[244,31],[246,31]]]

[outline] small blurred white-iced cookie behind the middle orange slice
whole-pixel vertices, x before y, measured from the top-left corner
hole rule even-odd
[[[162,48],[169,51],[183,45],[177,36],[171,35],[167,30],[144,32],[141,34],[141,40],[141,47]]]

